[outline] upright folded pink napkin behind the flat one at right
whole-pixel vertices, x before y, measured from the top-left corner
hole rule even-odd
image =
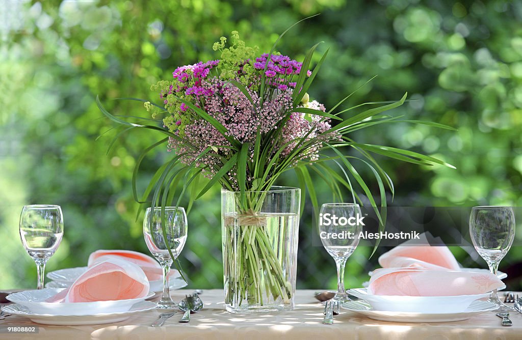
[[[429,233],[428,235],[431,236]],[[420,240],[408,240],[382,254],[378,261],[383,268],[422,267],[431,270],[460,269],[457,260],[455,260],[455,257],[448,247],[430,246],[424,233],[420,235]]]

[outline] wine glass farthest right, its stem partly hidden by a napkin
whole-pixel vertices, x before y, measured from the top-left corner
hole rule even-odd
[[[473,246],[488,263],[489,269],[496,276],[499,263],[513,244],[515,237],[515,215],[511,207],[473,207],[469,217],[469,234]],[[494,289],[488,302],[498,307],[495,311],[512,311],[504,305]]]

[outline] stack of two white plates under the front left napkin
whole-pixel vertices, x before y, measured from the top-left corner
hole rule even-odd
[[[46,302],[64,288],[26,290],[9,294],[6,299],[15,302],[2,307],[5,313],[20,315],[31,321],[50,325],[89,325],[119,322],[132,314],[156,308],[156,303],[146,297],[96,302]]]

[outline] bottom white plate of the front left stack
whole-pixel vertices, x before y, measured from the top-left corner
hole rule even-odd
[[[20,317],[29,318],[32,322],[45,325],[94,325],[103,323],[113,323],[127,320],[132,314],[151,310],[156,308],[156,303],[151,301],[140,301],[135,303],[131,309],[126,312],[118,313],[98,313],[90,315],[55,315],[55,314],[37,314],[18,303],[7,305],[2,308],[6,313],[19,315]]]

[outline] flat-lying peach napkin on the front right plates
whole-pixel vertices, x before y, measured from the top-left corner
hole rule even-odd
[[[503,285],[491,273],[381,268],[373,272],[368,293],[401,296],[474,295],[488,293]]]

